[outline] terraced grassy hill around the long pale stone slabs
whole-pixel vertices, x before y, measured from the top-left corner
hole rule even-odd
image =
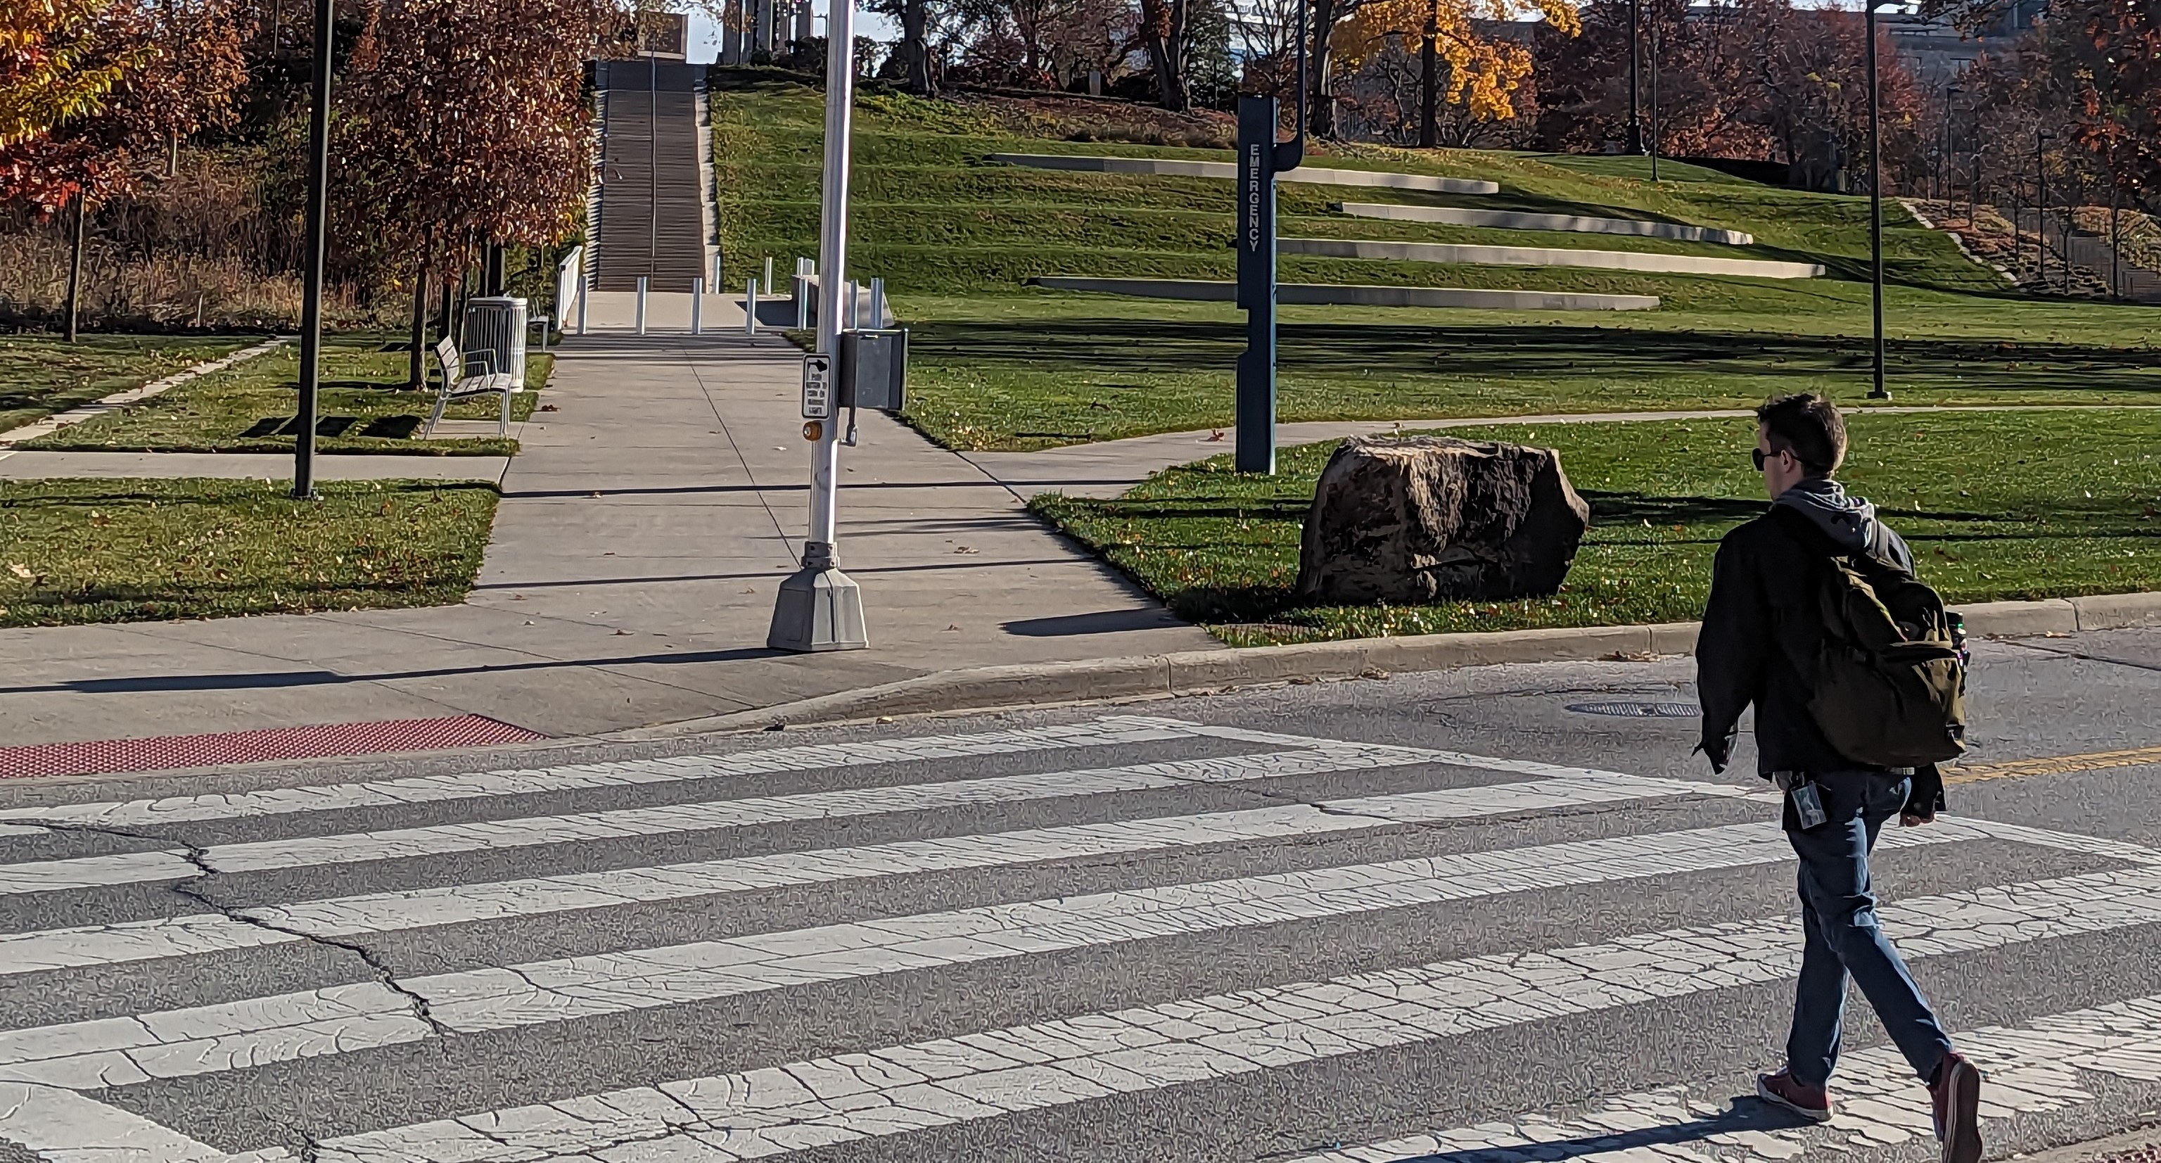
[[[715,71],[713,138],[728,283],[817,251],[821,93]],[[1089,106],[1115,110],[1119,106]],[[1135,117],[1163,119],[1135,110]],[[1115,117],[1104,112],[1100,117]],[[1150,125],[1180,145],[1102,141],[996,102],[867,93],[856,110],[849,272],[884,277],[912,329],[910,419],[955,447],[1042,447],[1227,424],[1243,316],[1024,288],[1042,275],[1234,275],[1232,184],[1037,171],[990,153],[1230,160],[1221,121]],[[1093,141],[1074,141],[1093,138]],[[1197,145],[1195,145],[1197,143]],[[1655,294],[1657,311],[1508,313],[1286,307],[1284,419],[1740,406],[1772,391],[1867,387],[1867,199],[1781,190],[1694,166],[1495,151],[1335,147],[1312,164],[1485,177],[1498,195],[1299,186],[1284,236],[1493,242],[1770,257],[1824,279],[1284,257],[1284,281]],[[1740,229],[1753,246],[1364,220],[1331,201],[1655,218]],[[2161,391],[2155,313],[2010,292],[1949,236],[1887,203],[1887,307],[1900,402],[2144,402]]]

